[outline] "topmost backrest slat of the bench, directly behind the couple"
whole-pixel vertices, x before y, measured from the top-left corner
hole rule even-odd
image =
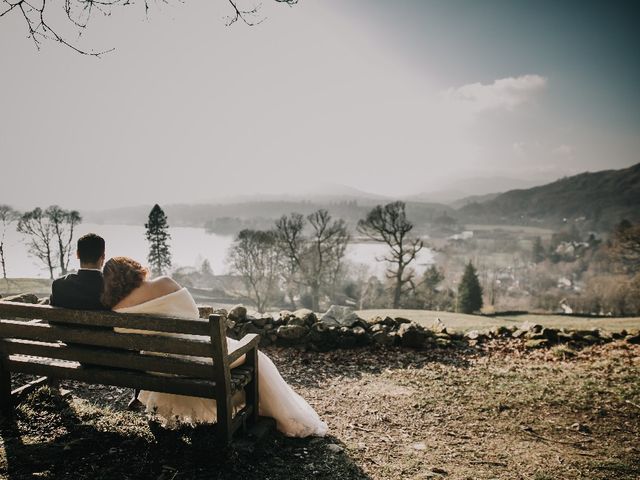
[[[71,310],[49,305],[3,302],[0,300],[0,318],[37,318],[52,322],[73,323],[94,327],[122,327],[168,333],[209,335],[209,323],[204,320],[158,317],[117,313],[110,310]]]

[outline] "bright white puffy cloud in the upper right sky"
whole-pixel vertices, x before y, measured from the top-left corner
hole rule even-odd
[[[512,111],[544,90],[547,83],[547,78],[540,75],[499,78],[488,85],[469,83],[449,88],[442,92],[442,97],[450,103],[468,107],[475,113],[486,110]]]

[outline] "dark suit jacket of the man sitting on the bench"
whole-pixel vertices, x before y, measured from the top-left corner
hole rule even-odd
[[[53,281],[49,302],[54,307],[78,310],[104,310],[100,303],[102,272],[80,269]]]

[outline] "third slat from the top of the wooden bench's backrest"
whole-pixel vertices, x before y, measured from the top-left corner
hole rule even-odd
[[[195,378],[213,379],[213,362],[196,360],[195,358],[175,358],[125,350],[110,350],[100,347],[70,346],[60,343],[43,343],[14,339],[0,340],[0,352],[7,355],[31,355],[104,367],[172,373]]]

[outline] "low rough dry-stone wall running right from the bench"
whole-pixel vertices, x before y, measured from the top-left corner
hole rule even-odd
[[[525,322],[518,327],[502,326],[461,333],[449,331],[440,321],[431,328],[425,328],[402,317],[365,320],[352,309],[335,305],[320,317],[307,309],[252,316],[242,305],[229,311],[200,308],[203,318],[211,313],[223,315],[227,322],[227,335],[231,338],[240,339],[247,333],[257,333],[261,346],[302,347],[317,351],[368,345],[417,349],[475,347],[496,339],[513,340],[527,349],[558,344],[584,347],[621,339],[640,344],[640,332],[637,331],[566,330]]]

